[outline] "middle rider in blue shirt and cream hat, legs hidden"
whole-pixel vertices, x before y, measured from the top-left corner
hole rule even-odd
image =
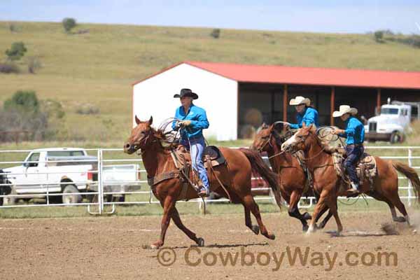
[[[310,106],[311,100],[309,98],[299,96],[291,99],[289,104],[295,106],[297,111],[297,123],[290,123],[291,129],[297,130],[302,128],[302,123],[307,126],[314,124],[318,127],[318,111]]]

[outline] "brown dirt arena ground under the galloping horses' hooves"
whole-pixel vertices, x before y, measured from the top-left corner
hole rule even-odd
[[[3,219],[0,279],[419,279],[420,235],[413,229],[392,224],[398,235],[386,235],[386,212],[341,217],[342,237],[328,233],[335,223],[306,237],[285,213],[263,214],[276,234],[269,241],[247,230],[240,214],[183,216],[206,246],[193,246],[171,224],[159,258],[146,248],[158,238],[159,216]],[[299,248],[307,262],[293,265]]]

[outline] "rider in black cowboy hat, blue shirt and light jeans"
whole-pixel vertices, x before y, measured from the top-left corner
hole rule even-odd
[[[181,100],[181,106],[175,111],[175,119],[179,120],[172,123],[172,129],[176,130],[181,127],[181,144],[190,147],[191,162],[193,169],[198,173],[203,186],[199,186],[200,197],[209,196],[209,179],[207,170],[204,168],[202,155],[206,143],[202,134],[202,130],[209,127],[206,111],[193,104],[193,99],[197,99],[198,95],[188,88],[183,88],[180,94],[175,94],[174,98]]]

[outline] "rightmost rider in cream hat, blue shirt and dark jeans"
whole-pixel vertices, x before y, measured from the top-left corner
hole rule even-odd
[[[348,105],[339,106],[339,111],[332,113],[334,118],[341,118],[346,124],[345,130],[333,130],[332,134],[346,138],[347,158],[344,160],[344,168],[351,182],[350,193],[359,193],[360,182],[356,173],[356,164],[360,160],[365,149],[363,141],[365,141],[365,126],[354,115],[357,114],[356,108]]]

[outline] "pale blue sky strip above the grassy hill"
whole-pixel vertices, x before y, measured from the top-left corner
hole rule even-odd
[[[420,34],[420,0],[0,0],[1,21]],[[416,24],[417,22],[417,24]]]

